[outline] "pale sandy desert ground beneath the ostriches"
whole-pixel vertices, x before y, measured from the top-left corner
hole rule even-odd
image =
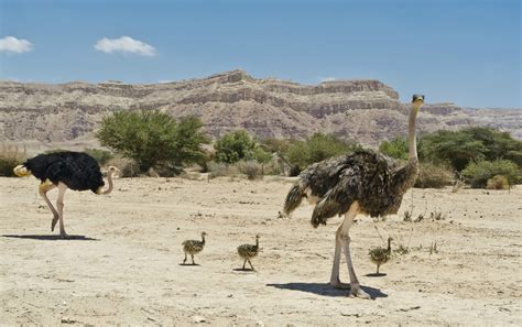
[[[373,297],[360,299],[327,284],[340,218],[314,229],[308,204],[280,217],[291,183],[124,178],[108,196],[67,192],[61,240],[37,181],[0,178],[0,325],[522,325],[522,186],[413,189],[398,215],[359,216],[354,262]],[[412,206],[422,221],[403,221]],[[410,249],[381,276],[368,257],[383,246],[376,227]],[[181,243],[202,231],[198,265],[181,265]],[[238,270],[236,248],[257,233],[257,271]]]

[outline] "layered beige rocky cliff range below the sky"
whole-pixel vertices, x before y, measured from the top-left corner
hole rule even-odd
[[[153,85],[0,81],[0,142],[96,145],[93,131],[104,115],[138,109],[198,116],[211,137],[236,129],[259,138],[305,138],[322,131],[369,145],[404,134],[407,123],[407,103],[401,103],[398,92],[379,80],[307,86],[232,70]],[[434,103],[423,107],[418,131],[490,126],[520,139],[521,118],[522,110]]]

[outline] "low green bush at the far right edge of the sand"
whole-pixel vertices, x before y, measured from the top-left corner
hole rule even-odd
[[[509,185],[516,184],[519,177],[519,167],[509,160],[480,161],[470,163],[463,171],[463,176],[475,188],[483,188],[488,179],[496,175],[504,176]]]

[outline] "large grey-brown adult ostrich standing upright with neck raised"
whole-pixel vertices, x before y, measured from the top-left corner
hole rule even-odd
[[[326,225],[326,220],[335,215],[345,216],[336,232],[330,284],[338,288],[350,288],[350,296],[370,297],[361,290],[354,270],[350,227],[358,214],[371,217],[395,214],[404,193],[415,183],[418,175],[415,119],[423,103],[424,96],[413,96],[409,120],[409,160],[403,167],[398,167],[389,157],[373,151],[358,150],[311,165],[300,174],[286,195],[286,215],[300,206],[303,197],[315,204],[312,214],[314,227]],[[339,281],[341,249],[348,264],[350,284]]]

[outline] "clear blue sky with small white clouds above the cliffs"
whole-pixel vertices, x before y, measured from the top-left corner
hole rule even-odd
[[[0,0],[0,79],[146,84],[241,68],[522,107],[520,2]]]

